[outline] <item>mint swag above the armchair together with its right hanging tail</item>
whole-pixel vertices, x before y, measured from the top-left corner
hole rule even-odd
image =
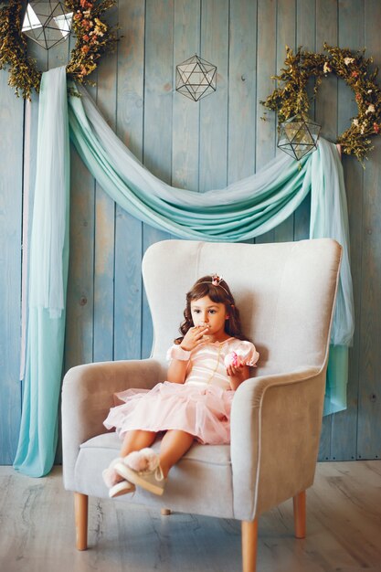
[[[333,318],[333,345],[349,345],[354,302],[343,167],[333,143],[298,164],[279,154],[259,173],[224,189],[196,193],[166,185],[141,164],[101,117],[85,90],[69,98],[70,138],[102,188],[134,217],[182,238],[239,241],[275,228],[312,196],[310,238],[344,249]]]

